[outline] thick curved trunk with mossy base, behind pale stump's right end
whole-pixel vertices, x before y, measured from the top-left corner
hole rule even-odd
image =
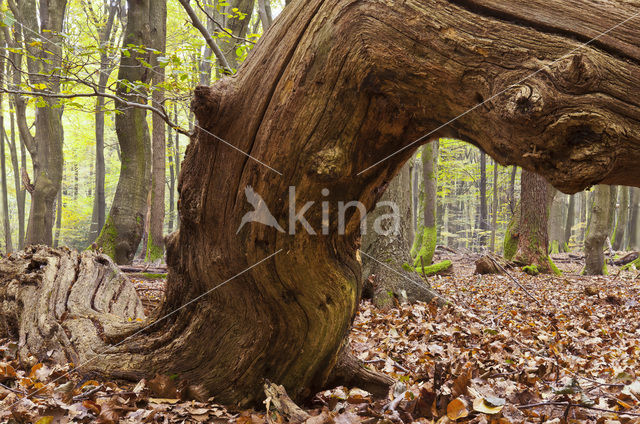
[[[150,45],[150,0],[129,0],[124,45]],[[125,50],[118,71],[119,98],[146,103],[146,90],[141,88],[150,81],[150,70],[140,66],[139,59],[150,63],[149,51]],[[133,88],[136,86],[136,88]],[[120,145],[121,167],[116,194],[109,216],[96,240],[96,244],[116,263],[131,262],[142,238],[147,195],[151,183],[151,146],[147,112],[130,108],[116,101],[116,134]]]

